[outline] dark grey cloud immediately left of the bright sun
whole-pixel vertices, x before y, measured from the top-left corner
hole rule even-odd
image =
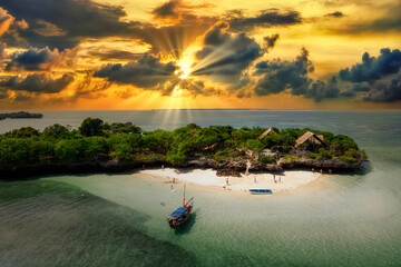
[[[151,88],[170,79],[176,69],[173,62],[163,63],[159,58],[145,53],[138,61],[107,65],[96,71],[94,77],[106,78],[120,85]]]

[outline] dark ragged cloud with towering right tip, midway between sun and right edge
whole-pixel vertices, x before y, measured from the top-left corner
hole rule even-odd
[[[267,96],[278,93],[290,89],[292,95],[306,95],[312,79],[307,77],[309,72],[314,70],[309,60],[309,51],[301,50],[301,56],[294,61],[261,61],[256,65],[254,76],[262,75],[257,81],[255,93],[257,96]]]

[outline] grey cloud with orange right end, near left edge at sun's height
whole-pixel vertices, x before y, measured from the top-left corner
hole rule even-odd
[[[57,49],[29,49],[11,56],[11,61],[6,66],[6,71],[42,71],[51,70],[55,66],[71,66],[77,50],[66,49],[59,52]]]

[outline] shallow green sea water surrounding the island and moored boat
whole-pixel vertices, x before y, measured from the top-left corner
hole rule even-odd
[[[179,205],[180,188],[174,194],[168,184],[135,172],[1,182],[1,266],[400,265],[400,110],[193,110],[192,120],[187,110],[118,112],[99,113],[107,121],[141,118],[137,125],[146,129],[160,128],[167,117],[169,127],[307,126],[351,136],[371,162],[286,195],[187,187],[195,210],[177,233],[166,217]]]

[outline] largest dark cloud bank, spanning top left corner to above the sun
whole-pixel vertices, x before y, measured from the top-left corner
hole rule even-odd
[[[92,0],[19,0],[6,1],[2,7],[30,26],[25,29],[16,26],[12,33],[6,33],[3,38],[9,47],[49,47],[60,51],[89,38],[121,37],[150,44],[151,53],[180,55],[216,21],[215,17],[197,17],[188,11],[194,7],[207,6],[180,4],[180,20],[165,27],[127,21],[123,7],[100,4]]]

